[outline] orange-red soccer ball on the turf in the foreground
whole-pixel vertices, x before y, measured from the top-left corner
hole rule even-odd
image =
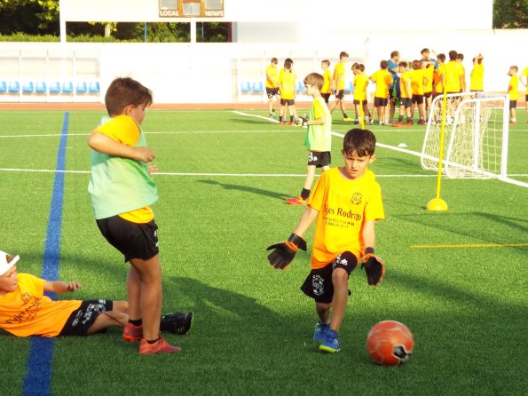
[[[399,321],[380,321],[366,336],[366,349],[375,363],[396,366],[411,357],[413,333]]]

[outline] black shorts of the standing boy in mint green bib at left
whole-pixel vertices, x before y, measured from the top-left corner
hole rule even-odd
[[[131,258],[148,260],[160,252],[158,226],[154,220],[138,224],[119,216],[113,216],[96,221],[106,241],[122,252],[125,263]]]

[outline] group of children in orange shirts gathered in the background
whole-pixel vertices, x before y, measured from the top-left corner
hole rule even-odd
[[[351,71],[354,75],[353,105],[355,109],[355,120],[347,114],[345,94],[345,67],[349,54],[342,51],[339,61],[335,64],[334,73],[330,73],[330,61],[321,61],[324,83],[320,89],[321,97],[327,103],[332,114],[335,108],[340,108],[343,113],[343,121],[355,121],[356,124],[374,124],[374,116],[377,112],[380,125],[390,124],[395,127],[410,126],[414,124],[415,110],[418,109],[418,124],[425,124],[432,110],[432,101],[444,91],[447,93],[458,93],[467,91],[466,71],[463,66],[464,55],[457,51],[449,51],[446,57],[443,53],[435,53],[437,59],[430,57],[428,48],[421,51],[422,59],[414,59],[407,62],[399,60],[399,52],[392,51],[390,59],[380,62],[380,69],[372,75],[366,75],[365,66],[360,63],[352,64]],[[484,56],[479,53],[472,59],[473,68],[469,78],[469,91],[484,91]],[[273,115],[274,103],[280,103],[280,124],[296,124],[298,115],[296,112],[296,75],[293,71],[293,60],[286,59],[284,67],[279,71],[278,60],[272,59],[272,64],[266,68],[266,92],[268,95],[268,107],[270,116]],[[528,86],[528,67],[521,74],[521,81]],[[509,69],[510,82],[508,84],[510,124],[516,123],[516,100],[518,99],[518,67]],[[375,84],[373,112],[367,106],[367,86]],[[330,96],[335,94],[335,100],[329,103]],[[526,102],[528,103],[528,101]],[[528,108],[528,104],[526,105]],[[398,119],[394,120],[395,109],[399,107]],[[287,110],[290,118],[287,120]],[[453,116],[453,108],[449,109],[447,122],[450,123]]]

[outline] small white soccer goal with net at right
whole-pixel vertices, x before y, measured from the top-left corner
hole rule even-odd
[[[444,152],[440,154],[442,101],[432,102],[422,147],[422,168],[449,178],[506,178],[508,164],[508,96],[488,92],[446,95]]]

